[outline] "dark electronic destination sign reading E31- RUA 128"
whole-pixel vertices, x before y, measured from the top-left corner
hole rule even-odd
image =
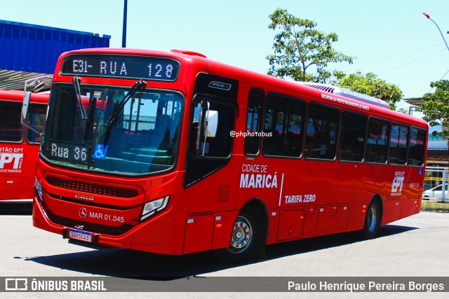
[[[171,58],[133,55],[69,55],[62,75],[175,81],[180,62]]]

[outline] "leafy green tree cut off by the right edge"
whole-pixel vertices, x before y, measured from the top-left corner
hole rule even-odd
[[[422,97],[422,104],[417,111],[424,113],[424,120],[429,125],[443,125],[443,133],[449,134],[449,81],[441,80],[430,83],[436,88],[434,93],[427,93]]]

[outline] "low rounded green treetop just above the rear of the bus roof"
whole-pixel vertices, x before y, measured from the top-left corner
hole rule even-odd
[[[403,97],[403,93],[398,86],[385,82],[373,73],[363,75],[360,71],[357,71],[356,74],[340,75],[337,86],[382,99],[390,104],[393,110],[396,110],[396,103]]]

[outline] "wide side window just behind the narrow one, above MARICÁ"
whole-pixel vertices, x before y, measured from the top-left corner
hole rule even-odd
[[[270,93],[264,122],[263,154],[300,158],[306,104],[302,99]]]

